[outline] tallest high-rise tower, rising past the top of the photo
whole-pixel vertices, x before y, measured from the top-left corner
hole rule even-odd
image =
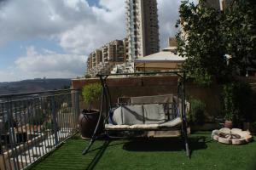
[[[126,0],[129,60],[160,50],[156,0]]]

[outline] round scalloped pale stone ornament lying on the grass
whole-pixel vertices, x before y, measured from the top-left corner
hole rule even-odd
[[[248,131],[242,131],[239,128],[221,128],[219,130],[212,131],[212,139],[222,144],[247,144],[253,136]]]

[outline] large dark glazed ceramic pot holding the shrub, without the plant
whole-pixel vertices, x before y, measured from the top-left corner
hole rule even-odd
[[[96,129],[96,124],[99,120],[99,111],[82,111],[79,116],[79,130],[82,138],[90,139]],[[98,131],[96,134],[102,132],[102,122],[100,122]]]

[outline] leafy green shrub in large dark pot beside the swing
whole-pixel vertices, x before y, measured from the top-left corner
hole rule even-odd
[[[87,109],[83,110],[79,116],[79,130],[83,139],[90,139],[96,129],[96,124],[99,120],[100,112],[93,110],[93,105],[100,102],[102,94],[102,85],[100,83],[92,83],[84,86],[82,95]],[[101,128],[97,133],[100,133]]]

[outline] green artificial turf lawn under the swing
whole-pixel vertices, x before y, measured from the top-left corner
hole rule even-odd
[[[107,147],[104,141],[96,141],[92,151],[82,156],[86,142],[75,136],[32,169],[256,169],[254,141],[239,146],[218,144],[211,140],[211,133],[195,133],[189,140],[190,160],[180,139],[124,139],[112,141]]]

